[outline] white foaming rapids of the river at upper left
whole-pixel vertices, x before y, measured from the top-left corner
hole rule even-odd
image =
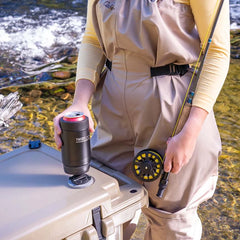
[[[33,13],[37,14],[38,9]],[[51,10],[37,18],[6,16],[0,19],[0,49],[16,62],[31,62],[46,56],[48,49],[71,43],[78,47],[85,18]]]

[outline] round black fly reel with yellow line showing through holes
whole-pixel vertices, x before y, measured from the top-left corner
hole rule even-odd
[[[142,150],[133,160],[133,172],[141,181],[155,181],[163,172],[163,158],[155,150]]]

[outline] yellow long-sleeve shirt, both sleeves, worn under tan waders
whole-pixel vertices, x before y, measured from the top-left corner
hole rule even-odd
[[[219,0],[174,0],[191,6],[195,23],[203,43],[209,25],[213,21],[213,13]],[[79,51],[76,81],[88,79],[97,85],[105,56],[100,48],[98,38],[92,23],[93,0],[88,1],[87,25]],[[225,0],[221,15],[214,32],[205,64],[197,84],[193,106],[210,111],[221,91],[225,81],[230,58],[230,20],[229,1]]]

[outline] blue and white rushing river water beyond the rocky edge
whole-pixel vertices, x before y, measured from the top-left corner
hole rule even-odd
[[[9,69],[0,74],[0,87],[20,82],[26,65],[56,60],[53,49],[79,47],[86,5],[86,0],[0,0],[0,66]],[[230,13],[231,28],[239,28],[239,0],[230,0]]]

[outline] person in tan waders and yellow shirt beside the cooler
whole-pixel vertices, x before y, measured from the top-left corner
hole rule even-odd
[[[209,199],[217,181],[221,142],[213,105],[229,66],[229,9],[225,1],[190,115],[172,134],[200,45],[207,35],[217,0],[90,0],[73,104],[55,119],[81,111],[89,117],[92,156],[133,177],[131,162],[142,149],[166,154],[170,172],[162,198],[158,180],[143,183],[150,206],[145,239],[200,239],[197,207]],[[104,83],[99,76],[107,61]],[[95,92],[95,89],[97,91]],[[96,130],[88,110],[94,96]],[[134,177],[133,177],[134,178]],[[127,229],[127,227],[126,227]],[[129,239],[125,231],[124,239]]]

